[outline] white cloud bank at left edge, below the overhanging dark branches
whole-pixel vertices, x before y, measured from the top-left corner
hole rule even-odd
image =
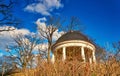
[[[0,29],[5,29],[7,26],[0,27]],[[15,37],[17,34],[27,35],[30,34],[30,31],[27,29],[17,29],[12,27],[15,30],[13,31],[3,31],[0,32],[0,50],[5,50],[6,45],[13,45],[15,42],[12,37]]]

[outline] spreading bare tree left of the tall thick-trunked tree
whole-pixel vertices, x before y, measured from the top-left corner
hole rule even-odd
[[[40,39],[36,35],[24,36],[22,34],[17,35],[13,38],[15,45],[7,46],[6,51],[16,58],[15,62],[22,68],[31,67],[31,61],[34,58],[34,49]]]

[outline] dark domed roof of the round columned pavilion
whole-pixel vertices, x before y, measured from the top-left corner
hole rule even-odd
[[[83,40],[90,42],[87,36],[84,34],[80,33],[79,31],[70,31],[65,34],[63,34],[57,41],[56,43],[60,43],[63,41],[69,41],[69,40]]]

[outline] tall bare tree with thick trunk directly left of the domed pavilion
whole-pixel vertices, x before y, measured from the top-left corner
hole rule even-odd
[[[50,17],[48,19],[48,21],[46,22],[46,27],[45,28],[41,28],[39,25],[38,26],[38,31],[40,33],[40,35],[46,39],[48,41],[48,55],[47,55],[47,60],[48,63],[50,62],[50,52],[51,52],[51,48],[53,45],[53,34],[56,30],[58,30],[58,28],[60,28],[62,26],[62,23],[64,21],[61,20],[60,18],[57,17]]]

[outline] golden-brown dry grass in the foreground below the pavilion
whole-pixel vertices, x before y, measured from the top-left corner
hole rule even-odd
[[[112,59],[91,65],[78,61],[45,63],[10,76],[120,76],[120,62]]]

